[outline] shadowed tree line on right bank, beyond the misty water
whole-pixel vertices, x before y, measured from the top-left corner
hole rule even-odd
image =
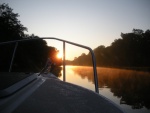
[[[130,33],[121,33],[110,46],[100,45],[94,50],[97,66],[104,67],[150,67],[150,30],[133,29]],[[91,55],[82,53],[73,61],[73,65],[92,65]]]

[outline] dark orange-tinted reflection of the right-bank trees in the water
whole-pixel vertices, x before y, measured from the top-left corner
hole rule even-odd
[[[94,83],[92,68],[73,70]],[[109,87],[114,96],[121,98],[120,104],[131,105],[133,109],[144,106],[150,109],[150,73],[114,68],[97,68],[97,72],[99,87]]]

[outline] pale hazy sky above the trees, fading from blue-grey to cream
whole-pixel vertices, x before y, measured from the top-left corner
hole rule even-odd
[[[28,34],[57,37],[92,49],[109,46],[120,38],[121,32],[150,29],[150,0],[0,0],[0,3],[8,3],[20,15]],[[59,43],[49,44],[60,49]],[[68,59],[85,52],[68,47]]]

